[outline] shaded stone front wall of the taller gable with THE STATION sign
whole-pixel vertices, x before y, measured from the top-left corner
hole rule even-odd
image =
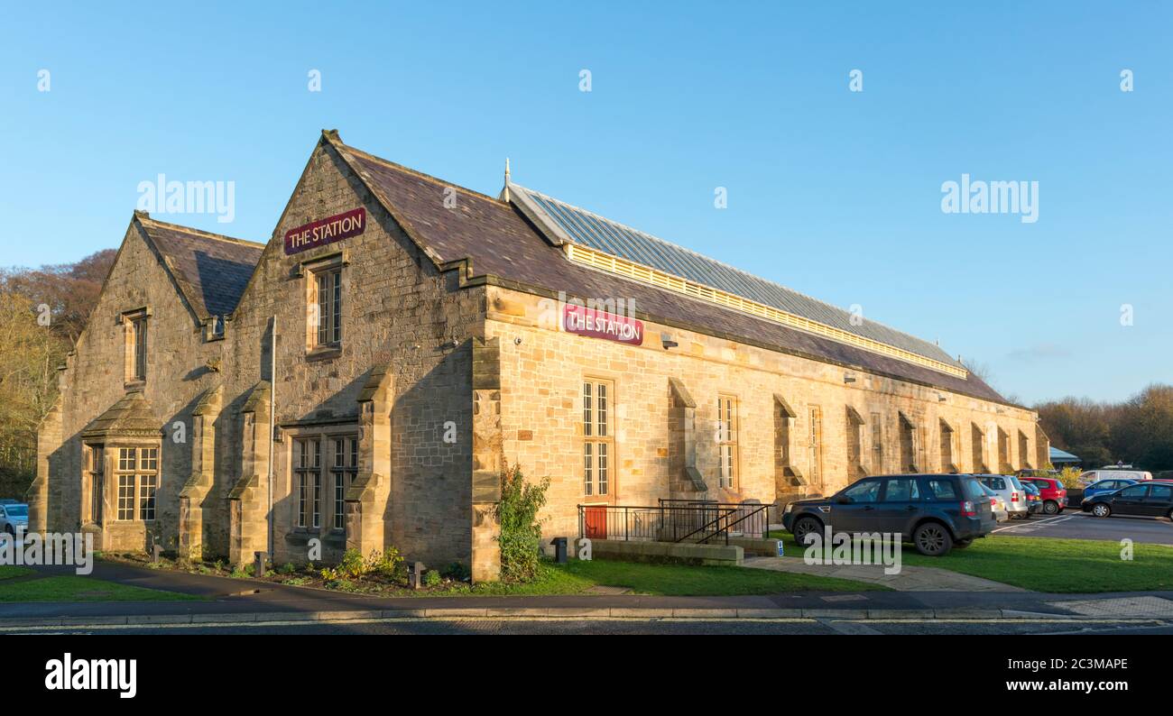
[[[438,189],[436,200],[441,199]],[[286,231],[359,206],[367,211],[362,234],[285,255]],[[308,335],[307,282],[314,261],[341,261],[345,296],[341,348],[320,355],[310,349]],[[229,383],[221,421],[239,421],[246,391],[270,377],[269,330],[271,319],[277,320],[278,561],[304,561],[312,537],[294,526],[293,441],[320,434],[359,435],[362,389],[375,367],[387,366],[394,395],[381,409],[389,410],[391,438],[364,441],[369,448],[359,469],[377,485],[374,493],[382,496],[380,504],[366,507],[379,511],[384,534],[378,541],[429,566],[470,564],[472,339],[482,332],[483,296],[483,288],[460,288],[456,272],[439,272],[337,150],[326,142],[318,145],[228,322]],[[446,434],[453,442],[443,439]],[[224,497],[239,482],[242,449],[239,429],[217,430],[217,484]],[[327,485],[328,473],[324,513],[330,510]],[[266,490],[262,477],[258,498],[267,499]],[[345,541],[323,537],[335,537],[326,540],[323,559],[340,557]],[[365,540],[365,551],[381,547],[366,544],[371,539]]]

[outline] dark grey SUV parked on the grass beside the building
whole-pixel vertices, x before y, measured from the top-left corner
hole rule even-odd
[[[930,557],[968,547],[996,521],[972,475],[886,475],[865,477],[835,495],[786,505],[782,526],[798,543],[811,533],[900,533]]]

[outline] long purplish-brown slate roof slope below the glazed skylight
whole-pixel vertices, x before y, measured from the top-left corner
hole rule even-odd
[[[338,150],[438,266],[448,268],[463,262],[466,281],[480,279],[548,295],[564,291],[576,298],[630,298],[636,302],[637,315],[657,322],[1006,402],[972,371],[968,377],[956,377],[572,262],[507,202],[348,146],[333,131],[323,132],[323,141]],[[456,191],[456,205],[452,209],[445,203],[448,189]]]

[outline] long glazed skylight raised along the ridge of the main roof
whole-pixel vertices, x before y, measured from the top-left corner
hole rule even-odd
[[[658,268],[697,284],[772,306],[832,328],[902,348],[924,357],[961,367],[940,346],[889,328],[873,320],[852,323],[852,314],[838,306],[813,299],[773,281],[755,277],[694,251],[670,244],[650,233],[624,226],[605,217],[560,202],[517,184],[509,185],[515,200],[530,200],[540,210],[538,217],[552,223],[562,237],[590,248],[629,261]]]

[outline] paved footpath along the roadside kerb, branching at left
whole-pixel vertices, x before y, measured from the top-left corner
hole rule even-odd
[[[1173,591],[1042,594],[991,591],[794,592],[757,596],[378,598],[97,562],[93,577],[203,596],[191,601],[0,604],[0,633],[20,627],[386,619],[981,620],[1171,619]]]

